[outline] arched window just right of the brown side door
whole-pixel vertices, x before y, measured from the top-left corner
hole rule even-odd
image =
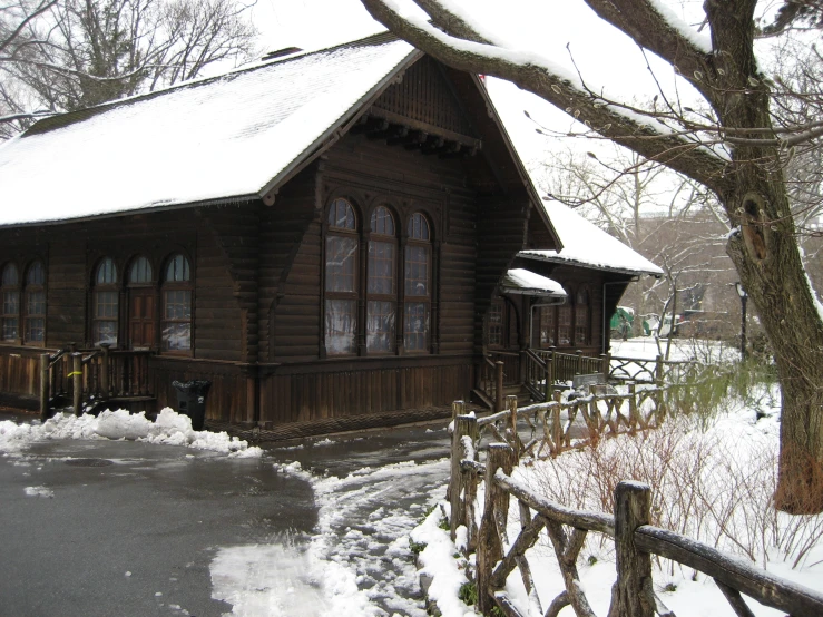
[[[192,268],[188,259],[173,255],[163,277],[163,349],[192,349]]]

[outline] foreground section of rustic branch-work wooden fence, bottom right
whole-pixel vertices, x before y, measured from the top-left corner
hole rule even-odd
[[[455,403],[461,411],[461,403]],[[512,415],[516,417],[516,415]],[[714,579],[738,617],[753,617],[743,594],[758,603],[786,611],[791,617],[823,615],[823,594],[781,579],[737,557],[727,555],[686,536],[649,525],[650,489],[639,482],[620,482],[615,490],[615,515],[589,512],[552,502],[511,478],[518,461],[516,432],[510,442],[491,443],[486,463],[479,461],[480,421],[458,413],[454,418],[451,452],[451,537],[466,527],[467,559],[476,557],[473,578],[478,590],[478,611],[489,615],[497,606],[509,617],[556,617],[571,606],[578,617],[595,617],[580,586],[577,558],[589,532],[614,541],[617,580],[611,590],[609,617],[674,617],[654,592],[651,557],[670,559]],[[477,503],[479,483],[484,482],[482,506]],[[518,536],[508,536],[511,498],[517,499]],[[478,517],[478,508],[480,509]],[[479,525],[478,525],[479,519]],[[565,590],[546,609],[535,586],[535,572],[527,552],[543,529],[553,547]],[[504,587],[517,569],[528,594],[526,613],[516,607]]]

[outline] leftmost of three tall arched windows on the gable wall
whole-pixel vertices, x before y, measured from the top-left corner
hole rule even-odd
[[[357,332],[357,223],[354,208],[337,198],[329,208],[325,238],[326,353],[354,353]]]

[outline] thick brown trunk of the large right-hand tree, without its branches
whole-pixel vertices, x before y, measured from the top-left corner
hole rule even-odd
[[[772,128],[767,87],[752,48],[754,0],[707,0],[715,69],[724,80],[721,125]],[[727,253],[774,347],[783,395],[777,508],[823,510],[823,319],[797,251],[783,165],[786,153],[738,145],[729,166],[734,190],[721,200],[738,232]]]

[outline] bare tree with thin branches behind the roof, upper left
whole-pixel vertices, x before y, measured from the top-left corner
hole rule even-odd
[[[0,62],[7,106],[25,109],[20,92],[33,92],[41,109],[74,110],[236,63],[254,51],[246,8],[233,0],[59,0],[23,28],[32,42]]]

